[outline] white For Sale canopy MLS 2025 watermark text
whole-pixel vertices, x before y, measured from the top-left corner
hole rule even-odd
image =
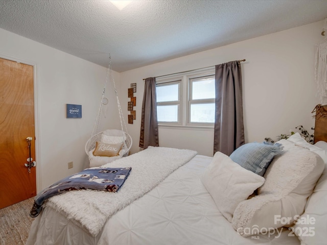
[[[310,215],[300,216],[294,215],[294,217],[284,217],[282,215],[274,215],[274,225],[281,226],[291,226],[289,228],[282,227],[280,229],[274,227],[259,227],[258,225],[253,225],[252,227],[238,228],[237,232],[244,236],[251,236],[252,239],[260,239],[259,234],[268,235],[268,237],[274,236],[278,238],[281,236],[285,229],[290,232],[288,236],[314,236],[316,223],[315,217],[310,217]],[[293,225],[301,225],[294,227]]]

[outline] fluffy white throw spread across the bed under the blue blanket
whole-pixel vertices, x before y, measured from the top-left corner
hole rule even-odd
[[[92,236],[99,234],[106,220],[116,211],[152,190],[178,167],[189,162],[197,152],[165,147],[152,147],[124,157],[103,167],[132,167],[118,192],[79,190],[55,195],[47,206],[78,223]]]

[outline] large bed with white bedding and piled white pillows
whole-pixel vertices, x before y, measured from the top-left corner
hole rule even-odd
[[[26,244],[327,244],[326,144],[295,135],[268,145],[283,150],[270,149],[262,176],[236,163],[237,154],[150,147],[108,165],[132,167],[117,193],[82,190],[49,199]],[[130,185],[140,169],[149,180]],[[133,198],[108,199],[125,192]],[[79,207],[81,200],[88,206]],[[65,211],[69,206],[78,206],[76,213]]]

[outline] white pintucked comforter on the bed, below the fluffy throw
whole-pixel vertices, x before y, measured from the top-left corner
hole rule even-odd
[[[299,244],[286,229],[280,237],[237,234],[199,179],[211,160],[197,155],[112,215],[96,237],[54,209],[45,208],[34,220],[27,244]]]

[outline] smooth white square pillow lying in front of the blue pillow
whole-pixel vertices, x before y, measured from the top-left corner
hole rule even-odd
[[[260,187],[265,179],[241,167],[225,154],[217,152],[201,175],[201,181],[219,211],[231,222],[237,205]]]

